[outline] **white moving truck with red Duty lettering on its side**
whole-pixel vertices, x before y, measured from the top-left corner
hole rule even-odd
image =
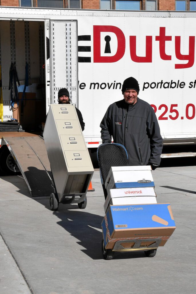
[[[97,148],[107,107],[123,98],[122,82],[134,76],[139,98],[156,112],[164,144],[194,144],[195,25],[196,12],[191,11],[1,6],[1,118],[15,111],[9,90],[15,63],[18,91],[23,92],[28,76],[26,92],[36,101],[27,116],[34,115],[35,124],[44,121],[50,103],[58,103],[58,90],[67,87],[84,118],[87,146]]]

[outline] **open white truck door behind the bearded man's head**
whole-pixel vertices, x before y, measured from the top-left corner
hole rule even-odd
[[[71,103],[78,106],[77,21],[49,21],[45,26],[46,97],[50,104],[58,103],[58,91],[67,88]],[[48,112],[48,109],[47,109]]]

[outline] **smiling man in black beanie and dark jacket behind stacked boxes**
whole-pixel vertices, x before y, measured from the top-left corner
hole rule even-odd
[[[100,124],[102,143],[125,146],[130,166],[160,165],[163,139],[153,108],[139,99],[138,81],[129,77],[122,85],[123,100],[112,103]]]

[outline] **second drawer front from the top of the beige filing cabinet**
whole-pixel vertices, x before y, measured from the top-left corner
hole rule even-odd
[[[80,135],[80,125],[78,121],[67,120],[56,120],[59,135]]]

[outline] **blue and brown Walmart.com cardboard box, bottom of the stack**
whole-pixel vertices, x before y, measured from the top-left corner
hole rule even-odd
[[[175,230],[169,203],[111,205],[102,221],[104,244],[113,248],[115,239],[159,238],[164,246]]]

